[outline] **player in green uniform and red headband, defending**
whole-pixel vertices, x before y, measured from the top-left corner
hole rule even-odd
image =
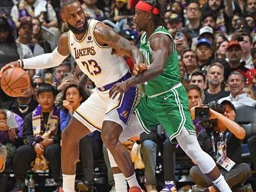
[[[150,132],[151,128],[162,124],[170,140],[178,142],[202,173],[213,181],[213,186],[219,191],[231,191],[214,160],[198,144],[188,109],[187,93],[180,83],[175,43],[164,27],[163,16],[164,6],[160,0],[138,2],[134,23],[140,31],[144,31],[140,39],[140,51],[149,67],[141,72],[140,65],[135,65],[136,76],[114,85],[109,96],[122,96],[129,87],[145,83],[144,98],[135,109],[145,131]],[[215,191],[214,187],[209,189]]]

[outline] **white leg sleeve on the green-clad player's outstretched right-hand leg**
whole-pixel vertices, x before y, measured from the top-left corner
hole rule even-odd
[[[213,158],[201,149],[198,144],[197,136],[189,134],[185,127],[183,127],[180,134],[176,136],[176,140],[187,156],[197,162],[202,173],[207,174],[216,166]]]

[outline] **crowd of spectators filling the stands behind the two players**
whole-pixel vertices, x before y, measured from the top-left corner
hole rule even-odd
[[[87,19],[102,21],[139,46],[142,32],[138,32],[133,24],[137,1],[80,0],[80,3]],[[160,0],[148,2],[153,1]],[[256,107],[256,0],[163,0],[163,3],[166,8],[165,27],[175,41],[180,78],[187,89],[199,144],[218,161],[214,154],[217,144],[226,140],[223,145],[227,149],[223,153],[236,165],[230,172],[220,169],[229,186],[237,190],[250,175],[251,164],[241,162],[244,129],[234,120],[237,107]],[[0,69],[10,61],[52,52],[56,45],[54,39],[67,32],[68,27],[61,21],[59,0],[1,0]],[[131,60],[127,59],[127,63],[131,67]],[[72,112],[87,100],[95,87],[73,58],[67,58],[52,69],[29,69],[27,72],[31,87],[25,95],[12,98],[0,89],[0,172],[5,171],[5,167],[14,170],[16,184],[12,191],[26,190],[27,171],[36,158],[47,159],[52,178],[61,186],[61,131],[69,123]],[[210,109],[211,118],[217,120],[217,129],[209,133],[193,114],[195,107],[205,106],[211,101],[222,103],[225,111]],[[173,191],[178,180],[175,154],[185,155],[159,130],[160,127],[156,127],[150,134],[142,133],[131,138],[131,144],[141,144],[139,149],[145,167],[147,192]],[[252,156],[250,163],[254,163],[254,167],[255,140],[256,136],[248,140]],[[80,141],[83,177],[78,187],[81,190],[93,191],[95,158],[104,153],[110,168],[105,152],[100,132],[91,133]],[[164,156],[164,187],[158,186],[160,182],[156,180],[159,153]],[[197,165],[192,167],[190,176],[197,184],[192,191],[215,191]],[[111,192],[114,192],[111,170],[108,177]],[[5,192],[5,175],[0,175],[0,178],[0,191]],[[255,177],[254,180],[256,182]]]

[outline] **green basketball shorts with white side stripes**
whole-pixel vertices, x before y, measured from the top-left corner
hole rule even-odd
[[[144,96],[135,113],[145,132],[149,133],[161,124],[171,142],[175,142],[173,139],[180,134],[182,127],[189,133],[196,134],[183,85],[154,98]]]

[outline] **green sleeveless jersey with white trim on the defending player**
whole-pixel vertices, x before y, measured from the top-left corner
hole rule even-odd
[[[169,34],[168,30],[164,27],[160,26],[156,28],[153,34],[165,34],[171,38],[173,41],[173,37]],[[152,53],[153,50],[150,47],[150,39],[153,34],[146,40],[147,34],[144,32],[140,39],[140,51],[142,52],[145,60],[145,64],[151,65],[152,63]],[[180,83],[180,68],[178,65],[178,54],[176,52],[175,43],[173,41],[173,53],[167,57],[165,63],[164,72],[153,80],[145,82],[145,95],[146,96],[154,96],[161,92],[168,91],[177,83]]]

